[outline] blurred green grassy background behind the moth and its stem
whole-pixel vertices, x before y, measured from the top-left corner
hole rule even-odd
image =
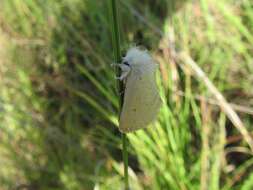
[[[1,190],[123,189],[108,10],[0,1]],[[252,151],[175,54],[196,61],[252,134],[253,1],[122,0],[119,12],[122,52],[152,53],[164,100],[152,127],[128,135],[131,188],[252,190]]]

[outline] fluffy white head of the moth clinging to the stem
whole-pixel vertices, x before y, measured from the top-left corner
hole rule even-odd
[[[140,64],[153,63],[152,57],[149,55],[147,50],[141,50],[138,47],[130,48],[126,56],[123,58],[123,64],[134,66]]]

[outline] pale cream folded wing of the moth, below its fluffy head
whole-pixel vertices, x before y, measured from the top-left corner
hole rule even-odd
[[[133,69],[126,80],[124,103],[119,128],[132,132],[147,127],[162,104],[155,80],[156,65]]]

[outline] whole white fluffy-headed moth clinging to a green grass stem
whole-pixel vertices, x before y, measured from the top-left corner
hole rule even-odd
[[[133,47],[118,66],[122,70],[118,79],[125,84],[119,129],[124,133],[143,129],[156,118],[162,104],[155,77],[157,65],[147,51]]]

